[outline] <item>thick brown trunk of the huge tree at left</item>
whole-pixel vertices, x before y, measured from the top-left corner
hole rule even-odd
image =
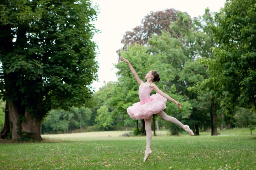
[[[40,132],[41,121],[32,117],[18,102],[10,102],[9,114],[12,124],[12,139],[42,140]]]

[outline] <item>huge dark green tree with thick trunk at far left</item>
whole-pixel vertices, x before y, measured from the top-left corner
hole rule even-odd
[[[5,127],[13,139],[42,140],[48,111],[91,98],[98,68],[91,40],[97,9],[84,0],[2,0],[0,11],[0,91],[12,124]]]

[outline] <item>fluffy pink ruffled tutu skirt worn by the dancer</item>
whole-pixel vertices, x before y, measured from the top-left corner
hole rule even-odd
[[[133,103],[133,106],[127,108],[127,113],[133,119],[148,119],[152,114],[161,112],[166,108],[166,98],[154,94],[140,102]]]

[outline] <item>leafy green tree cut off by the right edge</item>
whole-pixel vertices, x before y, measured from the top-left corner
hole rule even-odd
[[[223,93],[225,103],[256,110],[255,0],[228,0],[216,13],[212,27],[218,46],[208,70],[215,79],[215,92]],[[253,113],[253,112],[252,112]]]

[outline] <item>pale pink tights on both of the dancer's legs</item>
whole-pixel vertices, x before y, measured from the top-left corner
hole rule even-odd
[[[174,117],[167,115],[164,111],[157,113],[157,115],[159,115],[161,118],[163,118],[166,121],[175,123],[176,125],[180,126],[181,128],[183,127],[183,124],[180,121],[178,121]],[[144,120],[145,120],[145,130],[146,130],[146,146],[150,147],[151,146],[151,138],[152,138],[152,132],[151,132],[152,116],[150,118],[144,119]]]

